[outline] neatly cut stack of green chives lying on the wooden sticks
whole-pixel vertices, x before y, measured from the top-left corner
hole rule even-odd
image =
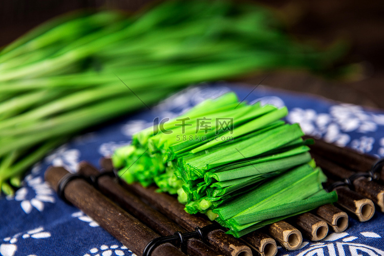
[[[112,160],[126,182],[178,194],[187,212],[240,237],[337,200],[323,189],[300,126],[281,120],[286,114],[227,93],[134,134]]]

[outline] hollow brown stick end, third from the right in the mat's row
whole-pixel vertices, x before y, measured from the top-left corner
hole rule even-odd
[[[313,213],[328,223],[334,232],[340,233],[348,228],[348,215],[332,204],[325,204],[313,210]]]

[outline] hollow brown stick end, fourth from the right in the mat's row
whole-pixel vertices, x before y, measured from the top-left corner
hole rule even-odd
[[[328,234],[327,222],[310,212],[293,217],[291,223],[293,226],[298,227],[298,229],[311,241],[322,240]]]

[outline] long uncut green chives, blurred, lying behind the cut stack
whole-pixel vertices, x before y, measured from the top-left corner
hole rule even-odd
[[[0,51],[0,187],[12,194],[10,184],[18,186],[51,148],[190,83],[277,68],[324,73],[342,52],[295,42],[265,8],[228,1],[169,1],[131,17],[102,11],[57,18]],[[255,114],[240,123],[272,112],[242,107]],[[151,153],[162,148],[169,160],[188,148],[161,143],[151,140]]]

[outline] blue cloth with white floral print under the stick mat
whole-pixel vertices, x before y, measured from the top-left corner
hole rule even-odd
[[[161,120],[178,116],[206,98],[229,91],[236,92],[239,99],[247,97],[250,103],[261,101],[263,104],[286,105],[289,109],[287,120],[300,123],[307,134],[323,137],[340,146],[350,146],[360,152],[384,156],[384,112],[263,86],[250,95],[249,87],[233,84],[190,87],[151,110],[143,108],[139,114],[75,138],[35,164],[15,196],[0,199],[0,255],[131,255],[129,248],[99,227],[97,222],[60,200],[44,182],[45,169],[55,165],[76,172],[81,160],[98,166],[101,156],[110,156],[115,148],[130,143],[132,134],[153,125],[154,118]],[[141,104],[139,100],[137,103]],[[296,251],[279,247],[278,255],[384,256],[383,221],[381,212],[376,212],[367,223],[350,218],[345,232],[331,233],[316,243],[305,240]]]

